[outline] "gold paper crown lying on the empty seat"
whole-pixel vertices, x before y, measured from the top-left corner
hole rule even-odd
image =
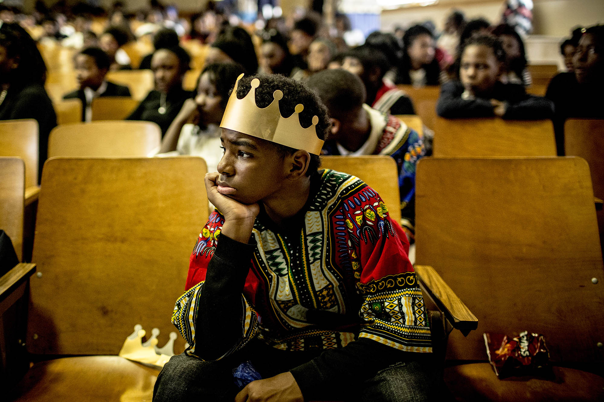
[[[126,338],[118,356],[133,360],[134,362],[162,368],[170,360],[170,357],[174,356],[174,341],[177,335],[175,332],[171,332],[170,340],[162,348],[158,348],[157,336],[159,335],[159,329],[153,328],[151,330],[151,337],[147,342],[143,343],[145,333],[142,325],[135,325],[134,332]]]

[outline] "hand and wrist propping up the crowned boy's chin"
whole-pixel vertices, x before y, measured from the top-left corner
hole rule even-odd
[[[217,172],[205,174],[205,190],[208,193],[208,200],[225,217],[222,233],[233,240],[248,243],[249,235],[252,234],[254,228],[254,220],[260,212],[260,206],[258,204],[245,205],[220,194],[216,185],[218,176]]]

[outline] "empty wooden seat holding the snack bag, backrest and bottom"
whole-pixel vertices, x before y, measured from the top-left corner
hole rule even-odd
[[[466,338],[449,336],[458,401],[604,400],[604,267],[583,159],[421,159],[416,264],[478,318]],[[483,333],[525,330],[544,334],[555,381],[500,380],[487,362]]]

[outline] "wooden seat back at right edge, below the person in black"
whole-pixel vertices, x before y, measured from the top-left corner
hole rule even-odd
[[[600,243],[604,249],[604,120],[568,119],[564,124],[564,152],[580,156],[590,165],[591,183],[597,197]]]

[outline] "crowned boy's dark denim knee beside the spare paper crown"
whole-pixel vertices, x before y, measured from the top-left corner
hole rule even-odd
[[[236,394],[232,368],[179,354],[172,356],[159,373],[153,401],[233,400]]]

